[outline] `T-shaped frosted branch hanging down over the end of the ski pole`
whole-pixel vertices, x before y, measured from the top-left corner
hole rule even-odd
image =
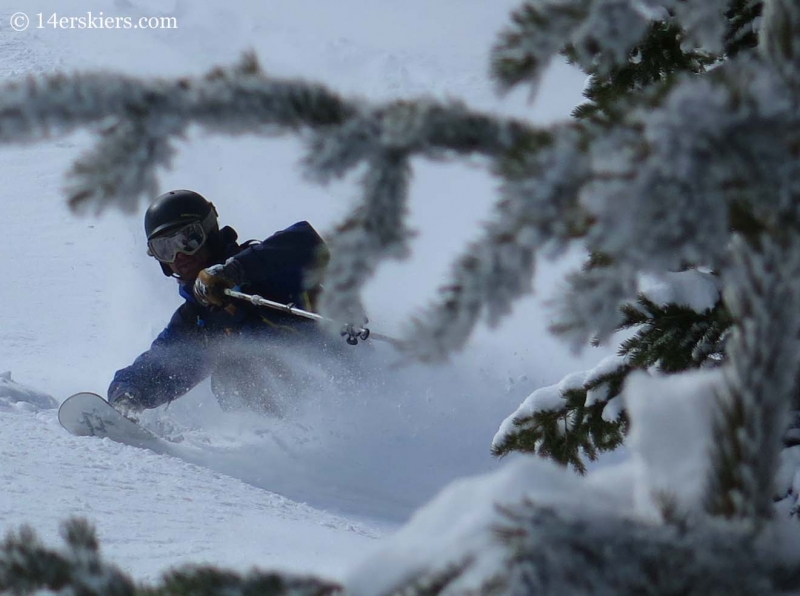
[[[498,156],[535,134],[513,120],[470,113],[458,103],[440,105],[428,100],[365,109],[360,117],[348,120],[343,126],[316,134],[305,160],[310,177],[325,182],[362,161],[367,164],[361,201],[331,238],[335,258],[326,277],[323,311],[334,319],[363,321],[365,313],[360,297],[363,284],[382,259],[402,259],[408,254],[407,240],[411,233],[406,229],[405,216],[411,154],[435,156],[450,151]],[[458,276],[459,265],[455,268]],[[519,275],[519,268],[515,273]],[[477,297],[483,298],[479,307],[488,302],[485,296]],[[465,312],[469,311],[462,308],[459,315]],[[441,358],[461,347],[473,326],[474,317],[462,328],[466,334],[448,328],[445,332],[449,337],[457,339],[451,339],[444,350],[438,349],[435,342],[425,341],[439,331],[430,324],[425,326],[426,338],[413,332],[411,335],[417,341],[407,345],[412,349],[424,346],[428,359]],[[422,350],[415,355],[426,357]]]

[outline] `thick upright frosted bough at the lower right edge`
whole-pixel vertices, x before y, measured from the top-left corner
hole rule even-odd
[[[725,300],[738,321],[719,391],[707,508],[726,517],[773,514],[781,438],[800,366],[800,246],[735,240]]]

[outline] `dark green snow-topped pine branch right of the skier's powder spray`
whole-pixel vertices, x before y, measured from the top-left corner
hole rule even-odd
[[[613,262],[595,254],[583,274],[610,266]],[[543,401],[543,407],[535,405],[542,401],[537,397],[540,392],[551,392],[552,387],[531,394],[498,431],[492,444],[495,455],[531,452],[583,471],[583,457],[593,460],[597,452],[616,449],[624,440],[627,414],[615,398],[631,372],[655,368],[662,373],[677,373],[722,364],[733,320],[719,294],[716,276],[695,270],[671,276],[670,292],[665,294],[661,289],[662,298],[680,297],[682,287],[696,294],[699,280],[709,294],[704,300],[711,300],[713,306],[698,312],[697,307],[676,302],[661,305],[645,293],[640,293],[635,303],[623,303],[622,320],[614,331],[630,330],[633,334],[620,344],[618,357],[602,361],[591,373],[579,373],[583,375],[580,386],[570,380],[574,375],[565,378],[557,386],[564,400],[558,407],[553,407],[551,400]],[[607,407],[612,400],[614,407]]]

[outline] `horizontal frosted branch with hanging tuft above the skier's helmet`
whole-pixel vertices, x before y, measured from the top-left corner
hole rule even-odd
[[[170,140],[190,124],[268,133],[340,124],[354,110],[320,85],[264,77],[246,55],[233,68],[196,79],[79,73],[7,83],[0,86],[0,143],[100,128],[100,143],[71,172],[70,205],[133,211],[140,198],[152,198],[154,168],[169,166]]]

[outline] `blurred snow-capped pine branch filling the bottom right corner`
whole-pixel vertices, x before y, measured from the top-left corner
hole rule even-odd
[[[545,478],[556,480],[557,475],[540,480]],[[401,579],[386,593],[779,596],[800,587],[800,565],[755,540],[740,524],[685,515],[657,524],[609,506],[607,495],[596,486],[589,494],[556,496],[555,487],[529,483],[532,497],[503,501],[491,512],[482,509],[480,515],[465,512],[456,518],[458,531],[453,534],[445,532],[443,537],[439,525],[427,531],[415,525],[414,534],[406,533],[394,544],[390,541],[381,557],[373,560],[381,569],[395,556],[406,565],[403,573],[393,574]],[[557,480],[555,484],[559,486]],[[480,503],[482,491],[464,492],[461,497]],[[431,505],[444,518],[452,507],[453,501],[444,499]],[[409,556],[417,548],[432,552],[431,541],[441,556]],[[459,573],[438,590],[416,589],[420,576],[445,577],[454,568]],[[363,567],[357,593],[370,593],[364,586],[372,573],[369,565]]]

